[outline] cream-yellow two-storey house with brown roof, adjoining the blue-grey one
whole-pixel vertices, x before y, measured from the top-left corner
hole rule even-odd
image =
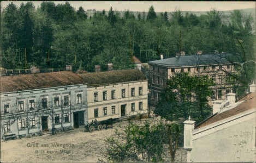
[[[88,83],[88,122],[147,114],[147,79],[139,70],[79,74]]]

